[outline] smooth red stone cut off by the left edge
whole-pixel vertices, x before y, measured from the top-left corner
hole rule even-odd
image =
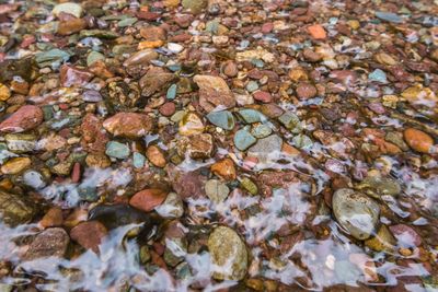
[[[43,122],[43,110],[36,105],[24,105],[0,124],[1,132],[23,132]]]

